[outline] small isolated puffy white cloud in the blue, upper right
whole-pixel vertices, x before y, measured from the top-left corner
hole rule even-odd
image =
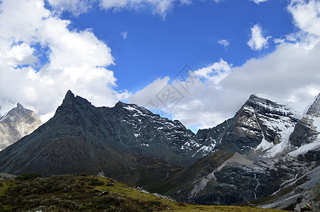
[[[267,47],[267,40],[271,37],[263,37],[262,28],[259,24],[256,24],[251,28],[251,37],[247,42],[248,46],[253,50],[261,50]]]

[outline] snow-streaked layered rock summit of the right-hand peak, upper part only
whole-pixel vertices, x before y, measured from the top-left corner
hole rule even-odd
[[[219,149],[241,154],[261,152],[280,143],[284,148],[297,122],[287,105],[250,95],[232,119],[214,128],[198,131],[198,138],[207,146],[198,153],[206,155]],[[270,151],[270,155],[281,153],[283,148]]]

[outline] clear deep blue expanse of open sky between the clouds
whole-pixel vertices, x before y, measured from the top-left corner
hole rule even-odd
[[[241,66],[247,59],[271,52],[275,49],[272,42],[258,52],[246,45],[250,28],[260,23],[266,35],[292,33],[292,17],[286,6],[287,1],[261,5],[238,0],[197,1],[177,5],[165,18],[150,8],[118,12],[94,8],[79,17],[64,13],[62,18],[72,20],[72,30],[92,28],[94,35],[111,47],[117,89],[135,93],[155,78],[175,76],[186,64],[200,69],[224,58]],[[126,40],[121,33],[127,33]],[[225,48],[219,40],[228,40],[231,45]]]

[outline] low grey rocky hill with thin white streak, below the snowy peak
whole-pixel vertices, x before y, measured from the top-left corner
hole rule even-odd
[[[280,185],[271,167],[272,163],[258,164],[239,153],[216,151],[189,167],[184,175],[198,174],[168,194],[180,201],[198,204],[235,204],[260,199],[275,192]]]

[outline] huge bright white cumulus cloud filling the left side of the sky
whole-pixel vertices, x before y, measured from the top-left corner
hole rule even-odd
[[[0,98],[48,118],[68,89],[97,106],[128,96],[114,91],[111,49],[92,30],[69,30],[40,0],[4,0],[0,11]]]

